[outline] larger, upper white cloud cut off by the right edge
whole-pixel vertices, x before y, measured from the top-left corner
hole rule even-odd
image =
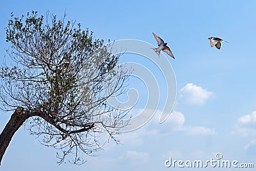
[[[243,137],[256,135],[256,111],[239,117],[232,134]]]

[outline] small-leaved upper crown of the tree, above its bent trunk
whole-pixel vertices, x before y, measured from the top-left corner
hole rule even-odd
[[[13,18],[12,13],[6,27],[6,41],[12,45],[12,51],[7,52],[16,63],[13,67],[2,66],[1,77],[9,78],[9,82],[20,89],[23,89],[20,82],[30,82],[31,89],[40,93],[33,93],[37,98],[31,104],[20,104],[22,100],[19,100],[19,106],[33,108],[51,99],[57,113],[61,103],[65,103],[67,108],[77,106],[77,75],[90,61],[88,56],[102,47],[103,40],[93,40],[93,32],[83,31],[81,24],[75,27],[74,22],[65,23],[65,16],[57,20],[56,15],[52,15],[51,23],[48,19],[48,16],[46,21],[44,16],[38,17],[36,11],[28,13],[26,19],[24,16]],[[118,57],[104,55],[108,57],[102,61],[100,56],[98,80],[106,77],[118,61]]]

